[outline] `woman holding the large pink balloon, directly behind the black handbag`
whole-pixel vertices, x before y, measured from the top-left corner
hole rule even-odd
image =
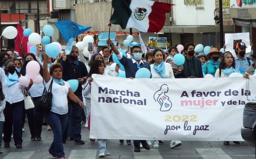
[[[33,53],[27,53],[25,56],[25,62],[22,65],[20,69],[20,74],[22,76],[26,76],[29,78],[29,76],[26,73],[26,66],[28,62],[30,61],[37,61],[36,56]],[[38,61],[37,61],[38,62]],[[39,64],[40,65],[40,64]],[[43,68],[40,65],[40,71],[38,75],[43,76]],[[32,84],[30,89],[27,89],[27,91],[30,92],[31,97],[34,100],[35,105],[41,98],[41,95],[44,90],[44,84]],[[36,112],[35,108],[25,110],[27,118],[28,118],[28,126],[31,134],[30,141],[35,141],[35,140],[42,140],[41,138],[41,132],[42,132],[42,124],[43,124],[43,113],[38,113]]]

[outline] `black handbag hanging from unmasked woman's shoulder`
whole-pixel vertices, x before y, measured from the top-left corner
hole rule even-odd
[[[52,82],[49,86],[48,91],[44,87],[43,94],[37,104],[35,105],[35,109],[38,113],[45,113],[52,109]]]

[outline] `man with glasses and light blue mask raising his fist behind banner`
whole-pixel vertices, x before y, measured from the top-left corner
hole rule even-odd
[[[118,51],[118,49],[110,39],[107,40],[107,44],[111,46],[111,49],[116,54],[118,60],[124,66],[126,78],[135,78],[135,74],[140,68],[147,68],[150,71],[150,64],[141,60],[142,51],[140,46],[132,46],[130,54],[131,56],[133,56],[133,58],[129,59],[123,56],[123,54]],[[145,148],[146,150],[150,150],[150,147],[146,140],[133,140],[134,152],[140,152],[140,143],[142,144],[143,148]]]

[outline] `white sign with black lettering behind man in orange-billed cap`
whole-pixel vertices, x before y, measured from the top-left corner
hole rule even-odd
[[[244,42],[247,46],[246,53],[251,52],[249,33],[225,34],[225,51],[233,51],[237,42]]]

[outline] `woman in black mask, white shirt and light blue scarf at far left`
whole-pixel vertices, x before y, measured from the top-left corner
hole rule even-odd
[[[24,86],[19,84],[20,73],[15,68],[14,61],[9,59],[4,63],[4,70],[0,68],[0,81],[5,95],[4,116],[4,147],[10,147],[11,135],[16,148],[22,148],[22,117],[24,112]],[[31,80],[32,81],[32,80]],[[30,82],[29,87],[31,87]],[[13,127],[13,128],[12,128]]]

